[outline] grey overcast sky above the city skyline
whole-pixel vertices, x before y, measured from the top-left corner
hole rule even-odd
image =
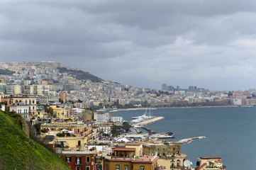
[[[256,1],[1,0],[0,59],[154,89],[256,88]]]

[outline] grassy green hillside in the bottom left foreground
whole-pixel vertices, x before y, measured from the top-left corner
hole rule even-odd
[[[26,136],[22,119],[0,111],[0,169],[69,169],[57,154]]]

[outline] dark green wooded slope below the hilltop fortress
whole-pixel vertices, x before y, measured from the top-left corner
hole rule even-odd
[[[103,79],[100,79],[99,77],[96,77],[92,74],[89,74],[89,72],[84,72],[81,70],[75,70],[75,69],[67,69],[66,67],[58,67],[57,68],[60,73],[67,73],[67,74],[72,74],[72,76],[76,77],[77,79],[80,80],[86,80],[89,79],[92,82],[100,82],[103,81]]]

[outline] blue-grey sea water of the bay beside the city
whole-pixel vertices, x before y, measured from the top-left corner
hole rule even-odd
[[[218,156],[227,169],[256,169],[256,107],[223,108],[160,108],[153,115],[165,119],[147,125],[155,132],[174,132],[178,141],[189,137],[206,136],[182,145],[182,153],[196,164],[197,158]],[[145,111],[111,112],[111,116],[143,115]]]

